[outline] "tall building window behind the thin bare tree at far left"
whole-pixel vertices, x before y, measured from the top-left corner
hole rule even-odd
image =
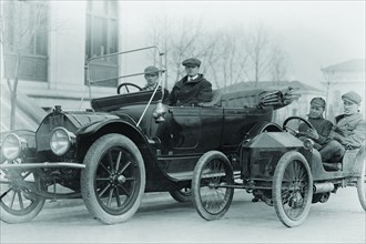
[[[18,78],[47,81],[48,2],[6,1],[3,8],[6,77],[16,77],[17,55],[19,53]]]

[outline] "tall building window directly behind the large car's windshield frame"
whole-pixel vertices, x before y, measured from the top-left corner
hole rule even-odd
[[[118,1],[88,1],[85,60],[119,50]],[[118,57],[98,59],[90,63],[92,81],[116,78]],[[95,85],[116,87],[115,79]]]

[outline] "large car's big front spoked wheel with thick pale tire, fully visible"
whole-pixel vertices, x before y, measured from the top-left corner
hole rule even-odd
[[[145,189],[145,167],[138,146],[126,136],[108,134],[89,149],[81,173],[81,194],[89,212],[104,224],[128,221]]]

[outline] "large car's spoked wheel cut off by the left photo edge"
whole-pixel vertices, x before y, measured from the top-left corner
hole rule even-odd
[[[6,161],[3,164],[7,163],[9,162]],[[0,220],[14,224],[34,218],[45,201],[37,194],[40,187],[41,182],[35,171],[1,170]]]

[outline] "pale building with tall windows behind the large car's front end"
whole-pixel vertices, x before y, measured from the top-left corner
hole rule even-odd
[[[9,92],[7,78],[14,77],[14,50],[23,41],[19,35],[24,31],[23,21],[34,21],[42,16],[43,27],[37,29],[34,34],[30,32],[29,45],[21,52],[18,91],[27,95],[29,102],[22,104],[20,110],[27,111],[27,106],[34,105],[44,111],[50,111],[54,105],[62,105],[64,110],[90,108],[85,61],[120,50],[120,2],[0,1],[0,11],[4,17],[6,41],[9,44],[3,45],[2,50],[1,90]],[[108,58],[91,63],[92,80],[118,77],[119,62],[119,59]],[[93,94],[115,94],[115,88],[116,80],[101,82],[93,89]],[[3,101],[9,98],[1,95],[2,129],[9,128],[9,106],[3,105],[9,104],[9,101]]]

